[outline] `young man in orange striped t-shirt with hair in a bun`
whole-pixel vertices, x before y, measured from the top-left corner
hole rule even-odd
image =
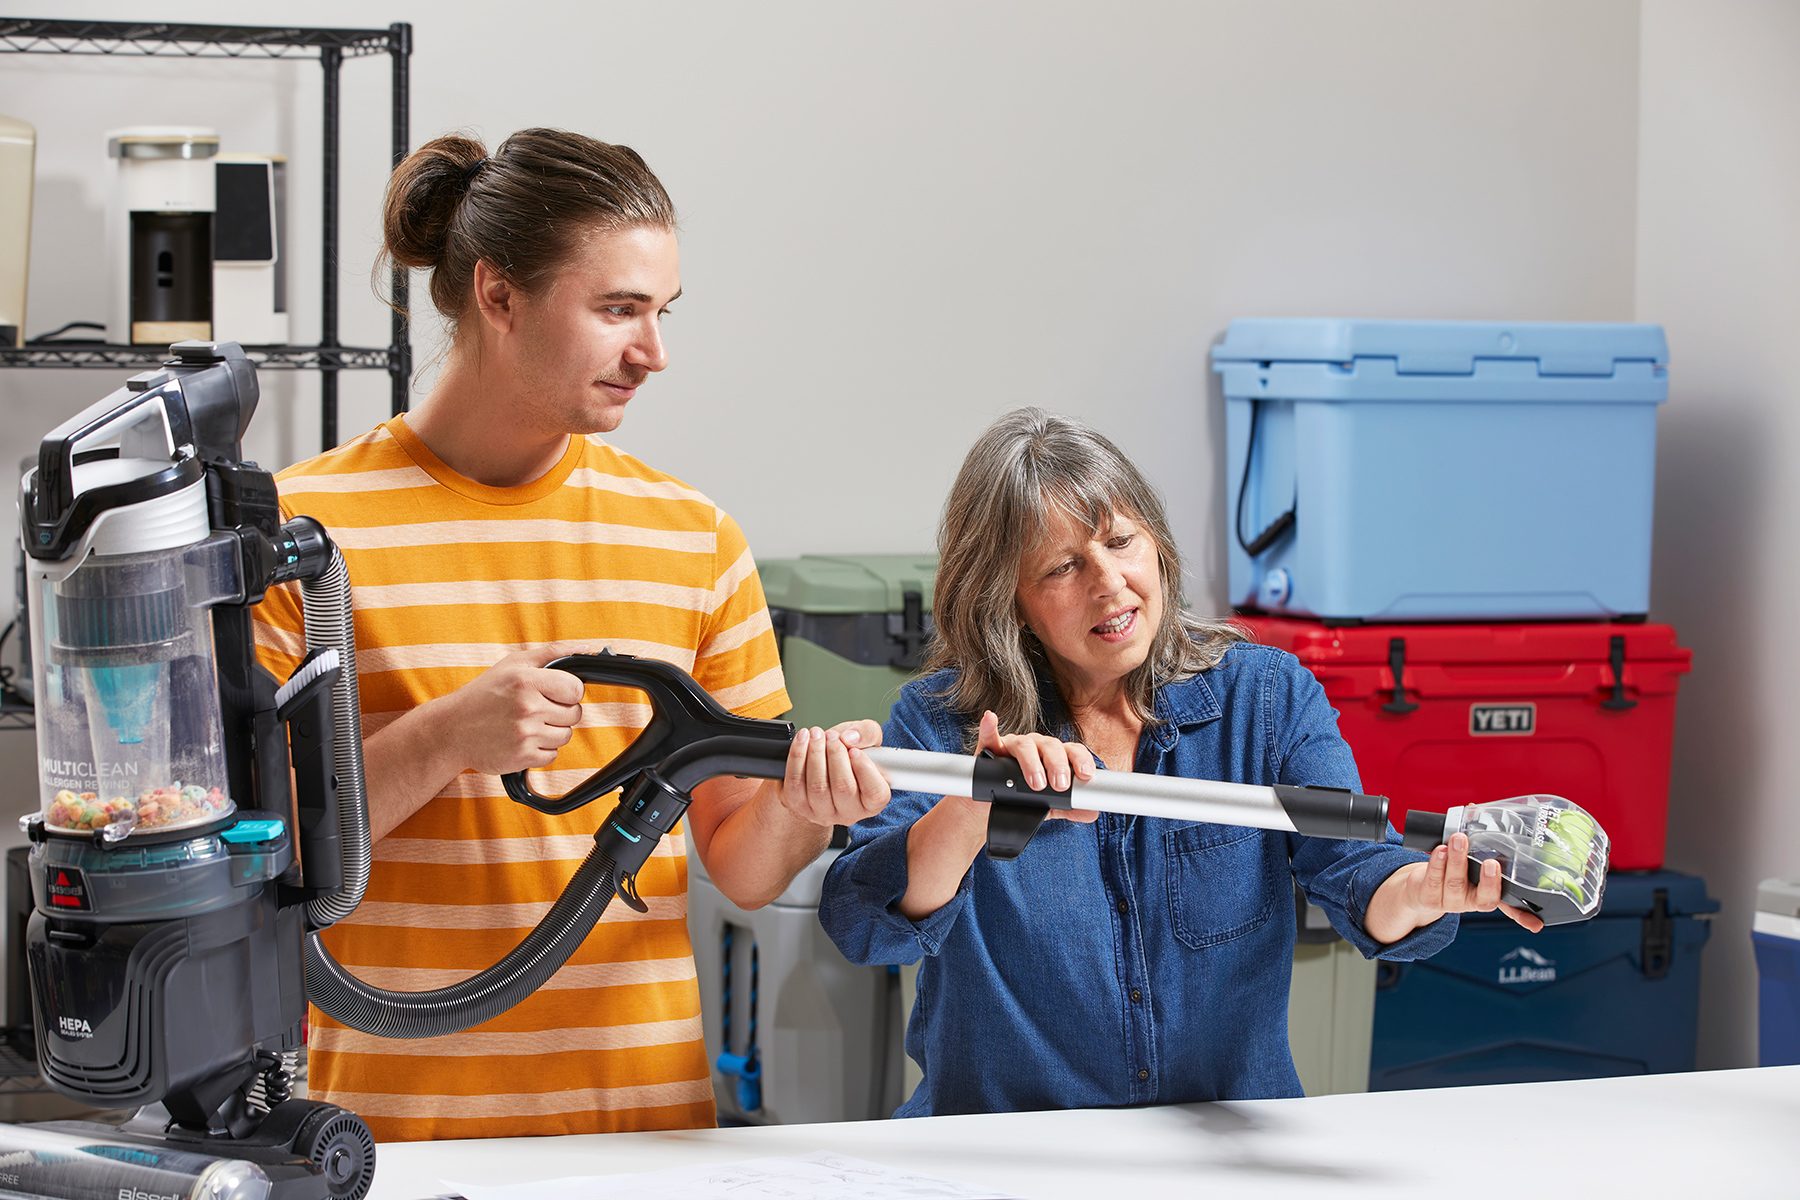
[[[688,669],[743,716],[787,711],[761,585],[738,525],[599,439],[668,363],[680,293],[675,216],[630,149],[524,130],[493,155],[443,137],[392,176],[385,246],[430,270],[452,326],[407,416],[281,475],[349,567],[374,846],[367,898],[326,934],[394,990],[490,966],[547,912],[592,846],[596,806],[545,793],[616,757],[650,718],[553,658],[610,648]],[[283,675],[304,651],[292,596],[259,610]],[[707,1126],[715,1121],[686,928],[691,837],[736,903],[778,896],[887,799],[859,747],[875,721],[796,738],[783,781],[718,779],[637,878],[648,914],[608,909],[536,995],[475,1029],[369,1036],[313,1011],[310,1087],[376,1137],[445,1139]]]

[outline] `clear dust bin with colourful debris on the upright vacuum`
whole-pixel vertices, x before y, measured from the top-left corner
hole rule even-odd
[[[234,810],[212,658],[211,543],[90,554],[32,596],[38,783],[56,833],[108,840]]]

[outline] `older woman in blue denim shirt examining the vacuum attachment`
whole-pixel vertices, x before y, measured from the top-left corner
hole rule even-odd
[[[1361,790],[1318,680],[1181,610],[1161,498],[1100,434],[1035,408],[997,421],[940,554],[932,673],[900,693],[884,745],[1012,754],[1031,786],[1111,768]],[[1073,813],[995,862],[986,808],[895,793],[824,882],[821,921],[853,963],[925,959],[905,1042],[923,1083],[898,1115],[1298,1096],[1291,878],[1384,959],[1499,907],[1496,864],[1467,883],[1462,835],[1427,858],[1391,829],[1366,844]]]

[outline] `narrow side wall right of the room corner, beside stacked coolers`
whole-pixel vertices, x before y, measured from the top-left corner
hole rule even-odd
[[[1643,4],[1640,320],[1669,329],[1654,596],[1694,648],[1670,865],[1723,901],[1701,1065],[1755,1063],[1757,880],[1800,876],[1800,7]]]

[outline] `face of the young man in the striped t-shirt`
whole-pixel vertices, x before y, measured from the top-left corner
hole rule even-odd
[[[637,225],[576,243],[547,288],[520,297],[517,371],[535,423],[558,434],[619,428],[637,387],[668,365],[662,317],[679,295],[673,230]]]

